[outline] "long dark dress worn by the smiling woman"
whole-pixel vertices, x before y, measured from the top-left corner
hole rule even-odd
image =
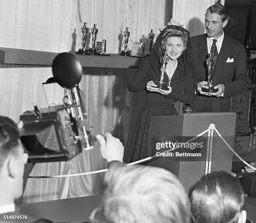
[[[169,95],[161,95],[146,90],[148,81],[159,81],[159,76],[152,69],[149,58],[141,61],[137,72],[133,75],[128,85],[131,92],[146,90],[146,104],[141,108],[136,123],[131,128],[124,152],[124,162],[131,163],[147,157],[148,133],[151,115],[176,115],[174,103],[180,101],[191,104],[194,96],[193,79],[191,72],[187,74],[182,57],[178,59],[177,68],[171,78],[172,92]],[[189,65],[190,66],[190,65]],[[166,75],[166,78],[168,76]]]

